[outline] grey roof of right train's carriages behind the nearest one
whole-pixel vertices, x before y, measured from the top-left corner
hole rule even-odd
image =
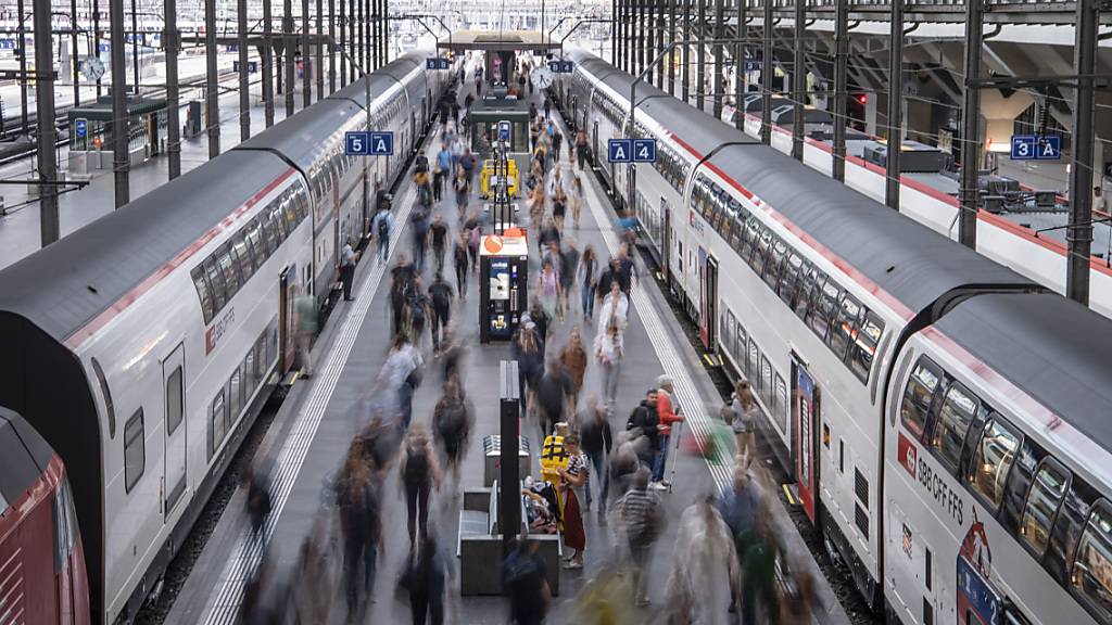
[[[577,52],[580,68],[628,98],[633,78]],[[917,312],[943,294],[974,285],[1036,285],[865,195],[648,83],[637,86],[644,111],[696,157],[709,162],[762,202],[798,226],[870,281]],[[642,98],[648,99],[642,101]],[[659,96],[659,97],[657,97]],[[725,147],[723,147],[726,145]],[[718,150],[718,151],[714,151]]]

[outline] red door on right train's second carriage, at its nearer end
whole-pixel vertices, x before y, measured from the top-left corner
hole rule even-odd
[[[818,386],[806,364],[792,353],[792,439],[800,504],[815,523],[815,493],[818,484],[818,430],[821,413]]]

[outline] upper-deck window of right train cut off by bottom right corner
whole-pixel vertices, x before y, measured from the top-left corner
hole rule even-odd
[[[1112,622],[1112,509],[1103,499],[1089,515],[1073,559],[1070,585],[1099,622]]]

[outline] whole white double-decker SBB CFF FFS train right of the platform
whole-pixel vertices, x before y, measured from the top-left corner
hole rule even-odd
[[[1112,321],[586,52],[554,86],[801,506],[903,623],[1112,623]],[[633,169],[636,168],[634,171]],[[632,179],[632,181],[631,181]],[[632,196],[632,197],[631,197]]]

